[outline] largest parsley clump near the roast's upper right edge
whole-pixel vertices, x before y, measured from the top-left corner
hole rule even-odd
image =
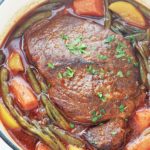
[[[122,57],[126,56],[124,48],[126,48],[126,45],[124,43],[119,42],[116,47],[116,52],[117,52],[116,58],[122,58]]]

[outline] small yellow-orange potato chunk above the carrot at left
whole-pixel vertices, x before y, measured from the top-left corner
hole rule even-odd
[[[11,53],[10,57],[8,58],[8,66],[10,70],[16,73],[20,71],[24,71],[24,67],[19,53],[17,52]]]

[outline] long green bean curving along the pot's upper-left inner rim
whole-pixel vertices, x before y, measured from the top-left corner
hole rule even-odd
[[[18,38],[34,23],[51,16],[51,11],[39,12],[30,17],[26,22],[24,22],[17,31],[13,34],[13,38]]]

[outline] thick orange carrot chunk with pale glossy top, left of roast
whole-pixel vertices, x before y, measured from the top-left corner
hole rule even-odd
[[[32,89],[21,77],[15,77],[10,82],[10,88],[23,110],[31,110],[38,106],[38,101]]]

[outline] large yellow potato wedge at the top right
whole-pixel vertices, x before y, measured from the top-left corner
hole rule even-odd
[[[142,13],[132,4],[117,1],[109,6],[109,9],[122,17],[127,23],[136,27],[145,28],[147,23]]]

